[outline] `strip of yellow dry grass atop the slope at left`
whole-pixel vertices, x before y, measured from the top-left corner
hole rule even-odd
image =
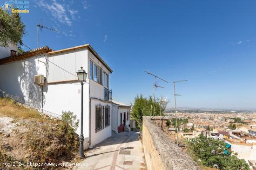
[[[20,106],[13,99],[2,97],[0,97],[0,113],[14,119],[41,118],[41,115],[36,110]]]

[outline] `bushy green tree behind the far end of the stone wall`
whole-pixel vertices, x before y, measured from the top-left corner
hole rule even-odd
[[[150,116],[150,110],[152,105],[153,98],[149,96],[149,99],[144,98],[141,94],[140,96],[137,95],[134,100],[134,105],[132,106],[132,113],[131,116],[136,121],[139,128],[142,126],[142,117],[143,116]],[[151,116],[159,116],[160,115],[160,105],[159,102],[154,99],[154,106],[155,106],[155,114],[153,113],[154,107],[152,107],[152,114]],[[161,111],[163,113],[163,110]],[[154,115],[153,115],[154,114]]]

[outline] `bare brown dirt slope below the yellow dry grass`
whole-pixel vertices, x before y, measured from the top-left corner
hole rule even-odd
[[[76,157],[74,152],[67,153],[65,141],[59,139],[61,136],[58,134],[59,122],[60,120],[50,118],[15,120],[0,113],[1,164],[4,160],[24,163],[37,161],[75,162],[79,158]],[[49,168],[45,167],[43,169]],[[21,169],[21,167],[18,169]]]

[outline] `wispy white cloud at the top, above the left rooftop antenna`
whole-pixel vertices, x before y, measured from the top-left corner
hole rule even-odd
[[[67,24],[69,26],[72,25],[72,22],[67,16],[65,7],[59,4],[56,0],[52,0],[50,3],[47,3],[44,0],[40,0],[38,5],[47,12],[50,12],[54,19],[57,19],[63,24]]]

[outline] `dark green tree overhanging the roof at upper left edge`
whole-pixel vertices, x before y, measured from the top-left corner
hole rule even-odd
[[[19,13],[8,13],[0,8],[0,46],[21,45],[25,33],[25,25],[21,22]]]

